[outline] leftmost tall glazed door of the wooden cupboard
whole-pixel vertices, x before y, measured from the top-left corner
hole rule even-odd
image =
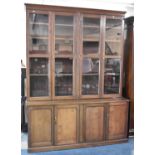
[[[27,84],[32,100],[51,99],[51,60],[48,12],[30,12],[27,17]]]

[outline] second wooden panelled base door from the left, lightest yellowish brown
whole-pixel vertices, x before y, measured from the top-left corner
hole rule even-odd
[[[56,144],[75,144],[77,142],[77,107],[56,109]]]

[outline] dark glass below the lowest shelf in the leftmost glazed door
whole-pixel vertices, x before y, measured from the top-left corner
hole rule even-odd
[[[49,96],[48,76],[31,76],[30,77],[30,96]]]

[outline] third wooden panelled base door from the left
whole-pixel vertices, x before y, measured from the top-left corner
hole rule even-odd
[[[86,108],[86,141],[101,141],[104,136],[104,107]]]

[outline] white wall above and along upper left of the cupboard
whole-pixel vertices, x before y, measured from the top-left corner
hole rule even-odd
[[[134,13],[134,0],[24,0],[20,22],[23,33],[21,59],[24,64],[26,64],[26,17],[24,3],[126,11],[126,17],[133,16]]]

